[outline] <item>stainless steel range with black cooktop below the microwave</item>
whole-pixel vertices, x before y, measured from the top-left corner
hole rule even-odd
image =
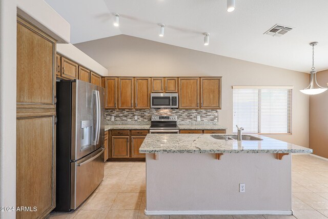
[[[153,115],[149,133],[177,134],[179,133],[179,127],[176,123],[176,115]]]

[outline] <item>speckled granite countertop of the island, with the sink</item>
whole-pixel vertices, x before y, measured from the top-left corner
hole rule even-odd
[[[212,134],[148,134],[140,153],[312,153],[312,149],[252,134],[262,141],[216,140]],[[224,134],[223,134],[224,135]]]

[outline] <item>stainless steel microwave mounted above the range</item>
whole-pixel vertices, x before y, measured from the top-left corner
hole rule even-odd
[[[151,108],[178,108],[177,93],[151,93],[150,107]]]

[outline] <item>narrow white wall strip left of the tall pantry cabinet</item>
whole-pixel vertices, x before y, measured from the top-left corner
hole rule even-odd
[[[0,0],[0,206],[16,206],[16,1]],[[15,218],[0,211],[0,218]]]

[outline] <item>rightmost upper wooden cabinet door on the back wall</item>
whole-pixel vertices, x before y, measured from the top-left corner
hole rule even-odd
[[[221,77],[200,78],[202,109],[221,109]]]

